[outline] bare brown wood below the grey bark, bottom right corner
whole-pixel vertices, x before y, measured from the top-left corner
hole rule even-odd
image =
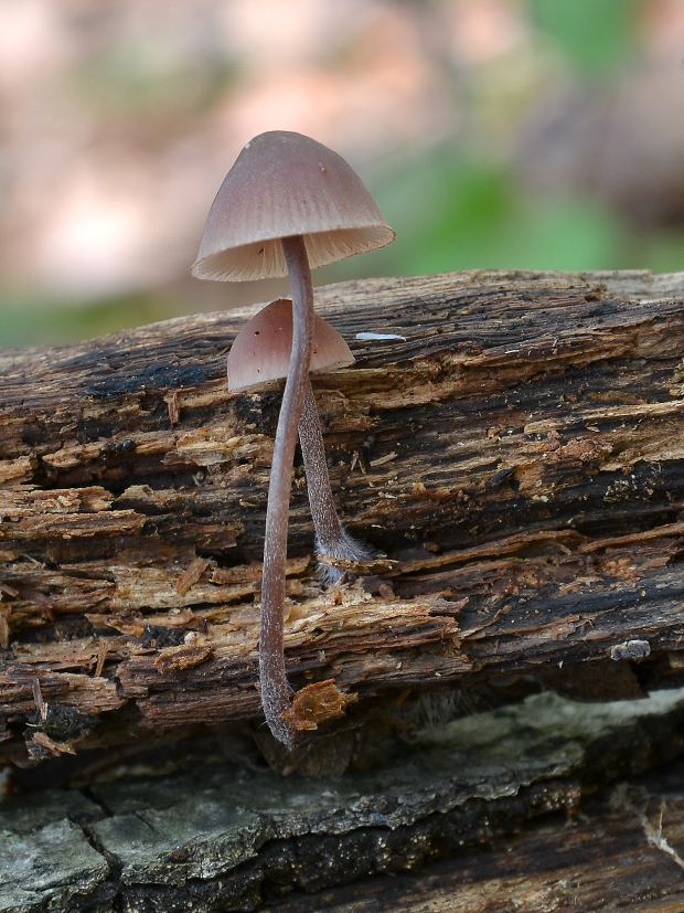
[[[363,879],[259,913],[680,913],[684,909],[681,765],[620,784],[559,817],[419,872]],[[318,905],[317,905],[318,904]]]

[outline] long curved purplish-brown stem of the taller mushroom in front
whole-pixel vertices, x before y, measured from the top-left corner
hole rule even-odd
[[[259,681],[268,728],[276,739],[291,749],[295,744],[292,732],[282,719],[282,713],[291,704],[284,654],[285,564],[297,427],[311,363],[313,286],[303,237],[284,237],[282,251],[292,289],[292,353],[282,394],[268,486],[261,581]]]

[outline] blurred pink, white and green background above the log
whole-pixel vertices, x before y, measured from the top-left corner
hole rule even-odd
[[[0,0],[0,344],[285,291],[189,275],[270,129],[397,232],[318,284],[684,269],[684,0]]]

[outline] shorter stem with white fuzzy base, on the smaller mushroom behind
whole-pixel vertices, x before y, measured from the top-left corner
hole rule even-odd
[[[309,505],[316,527],[316,551],[332,559],[346,561],[367,561],[371,550],[351,537],[342,525],[332,499],[323,435],[319,421],[311,381],[307,378],[301,417],[299,420],[299,440],[307,474]],[[319,573],[325,583],[335,583],[343,571],[329,565],[320,565]]]

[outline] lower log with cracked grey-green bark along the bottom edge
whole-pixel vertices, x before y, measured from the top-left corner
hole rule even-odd
[[[538,694],[334,783],[206,741],[138,757],[0,801],[0,910],[681,910],[684,771],[633,777],[681,753],[683,721],[682,690]]]

